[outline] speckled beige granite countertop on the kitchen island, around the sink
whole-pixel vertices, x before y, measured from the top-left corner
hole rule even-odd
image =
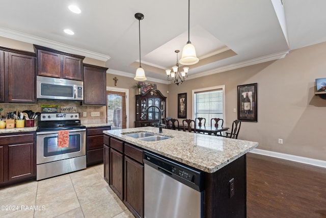
[[[160,141],[143,141],[126,133],[148,132],[171,137]],[[104,134],[129,142],[148,151],[179,161],[207,173],[214,173],[258,146],[258,142],[214,135],[189,133],[155,127],[107,130]]]

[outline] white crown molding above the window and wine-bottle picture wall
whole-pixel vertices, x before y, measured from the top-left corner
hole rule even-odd
[[[200,72],[196,75],[188,76],[188,79],[189,80],[196,79],[199,77],[209,76],[212,74],[218,74],[219,72],[225,72],[225,71],[232,70],[232,69],[238,69],[241,67],[251,66],[251,65],[255,65],[255,64],[259,64],[259,63],[263,63],[263,62],[267,62],[267,61],[273,61],[273,60],[285,58],[289,53],[290,53],[290,51],[285,51],[285,52],[280,52],[280,53],[276,53],[276,54],[266,55],[266,56],[259,57],[259,58],[254,58],[254,59],[251,59],[248,61],[242,61],[239,63],[218,67],[215,69]]]

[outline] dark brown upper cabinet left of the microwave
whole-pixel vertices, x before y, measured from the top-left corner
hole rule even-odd
[[[0,47],[1,103],[36,103],[35,61],[34,53]]]

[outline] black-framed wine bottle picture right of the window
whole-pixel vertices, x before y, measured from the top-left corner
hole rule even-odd
[[[257,83],[238,86],[238,119],[257,122]]]

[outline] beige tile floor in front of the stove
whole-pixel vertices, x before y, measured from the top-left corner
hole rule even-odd
[[[0,217],[134,217],[104,181],[103,164],[1,188],[0,206]]]

